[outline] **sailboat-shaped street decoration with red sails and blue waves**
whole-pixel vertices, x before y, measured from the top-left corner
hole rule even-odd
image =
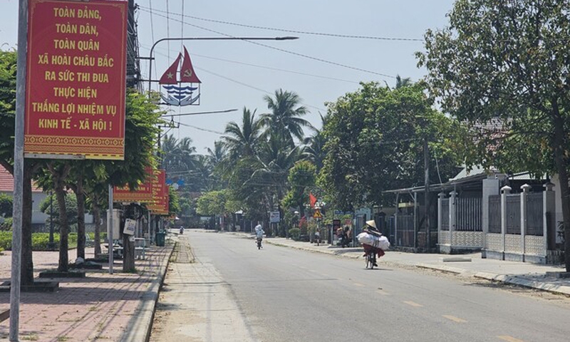
[[[166,90],[167,95],[160,93],[160,97],[165,101],[166,105],[199,105],[200,98],[200,80],[194,72],[190,54],[184,47],[184,58],[182,64],[180,59],[182,53],[178,53],[178,57],[162,74],[158,83]],[[180,76],[180,77],[177,77]],[[196,86],[194,86],[196,83]],[[197,95],[192,94],[198,90]]]

